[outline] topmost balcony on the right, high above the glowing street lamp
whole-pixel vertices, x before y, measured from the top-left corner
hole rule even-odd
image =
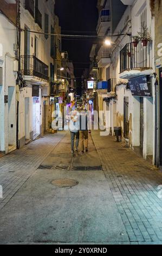
[[[99,15],[96,32],[98,35],[104,36],[108,28],[111,28],[111,10],[103,9]]]

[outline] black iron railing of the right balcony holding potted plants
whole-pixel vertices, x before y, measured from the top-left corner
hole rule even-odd
[[[144,44],[145,43],[145,44]],[[132,69],[152,68],[152,41],[126,44],[120,51],[120,73]]]

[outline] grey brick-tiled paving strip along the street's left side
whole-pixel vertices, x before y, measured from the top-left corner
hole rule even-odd
[[[65,135],[66,132],[60,132],[44,136],[0,159],[0,185],[3,187],[0,210],[9,202],[24,182],[29,179]]]

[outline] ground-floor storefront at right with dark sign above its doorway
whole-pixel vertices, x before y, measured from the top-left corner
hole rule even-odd
[[[153,97],[151,76],[129,80],[133,96],[133,145],[146,159],[153,155]],[[129,125],[130,126],[130,125]],[[137,148],[136,148],[137,149]]]

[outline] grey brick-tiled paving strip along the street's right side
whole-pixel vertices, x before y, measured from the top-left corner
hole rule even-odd
[[[115,137],[92,138],[131,244],[162,244],[162,173]]]

